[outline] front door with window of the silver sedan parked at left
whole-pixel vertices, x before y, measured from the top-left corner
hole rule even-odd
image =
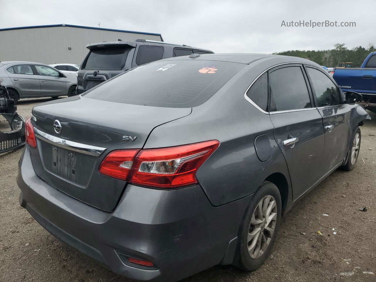
[[[41,83],[42,96],[67,95],[67,82],[65,77],[46,65],[33,65]]]

